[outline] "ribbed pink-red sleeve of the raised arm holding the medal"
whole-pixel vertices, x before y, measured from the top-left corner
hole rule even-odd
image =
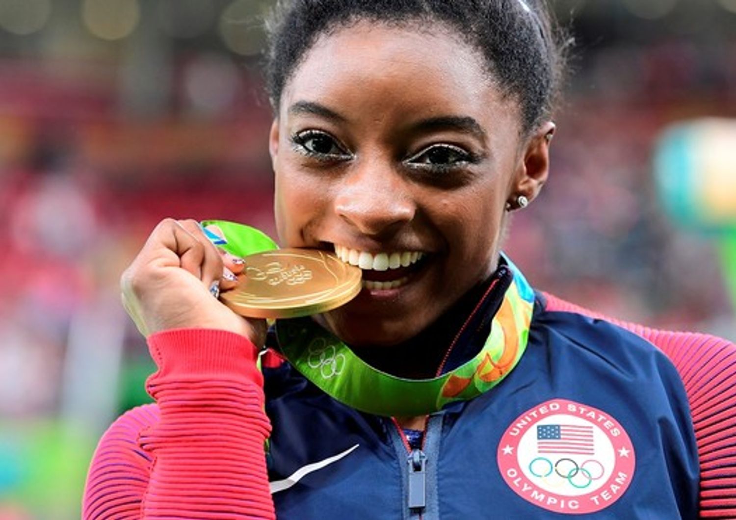
[[[149,350],[157,405],[130,410],[103,435],[83,518],[274,519],[255,347],[231,332],[169,330]]]

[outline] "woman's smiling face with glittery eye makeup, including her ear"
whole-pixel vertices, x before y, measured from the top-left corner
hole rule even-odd
[[[517,103],[447,32],[362,22],[317,40],[270,149],[282,245],[363,268],[361,293],[322,323],[347,343],[400,343],[486,278],[506,202],[546,174],[537,141],[522,142]]]

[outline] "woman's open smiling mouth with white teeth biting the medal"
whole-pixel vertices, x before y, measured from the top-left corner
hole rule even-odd
[[[334,246],[340,260],[361,268],[363,287],[369,291],[388,291],[406,285],[426,258],[426,254],[420,251],[369,253],[337,244]]]

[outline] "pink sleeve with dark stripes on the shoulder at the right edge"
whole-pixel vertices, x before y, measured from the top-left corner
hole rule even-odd
[[[539,296],[542,313],[565,321],[568,329],[584,330],[581,334],[608,330],[607,334],[613,331],[618,337],[634,335],[668,358],[690,405],[700,463],[701,516],[736,516],[736,345],[713,335],[657,330],[607,318],[547,293]],[[633,349],[646,349],[633,343]]]

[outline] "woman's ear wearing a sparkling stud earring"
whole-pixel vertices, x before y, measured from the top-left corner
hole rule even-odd
[[[514,177],[514,185],[509,196],[509,209],[517,209],[519,196],[525,196],[528,202],[533,201],[547,182],[550,165],[550,144],[555,132],[555,124],[547,121],[534,132],[526,143],[522,162]],[[525,204],[526,205],[526,204]]]

